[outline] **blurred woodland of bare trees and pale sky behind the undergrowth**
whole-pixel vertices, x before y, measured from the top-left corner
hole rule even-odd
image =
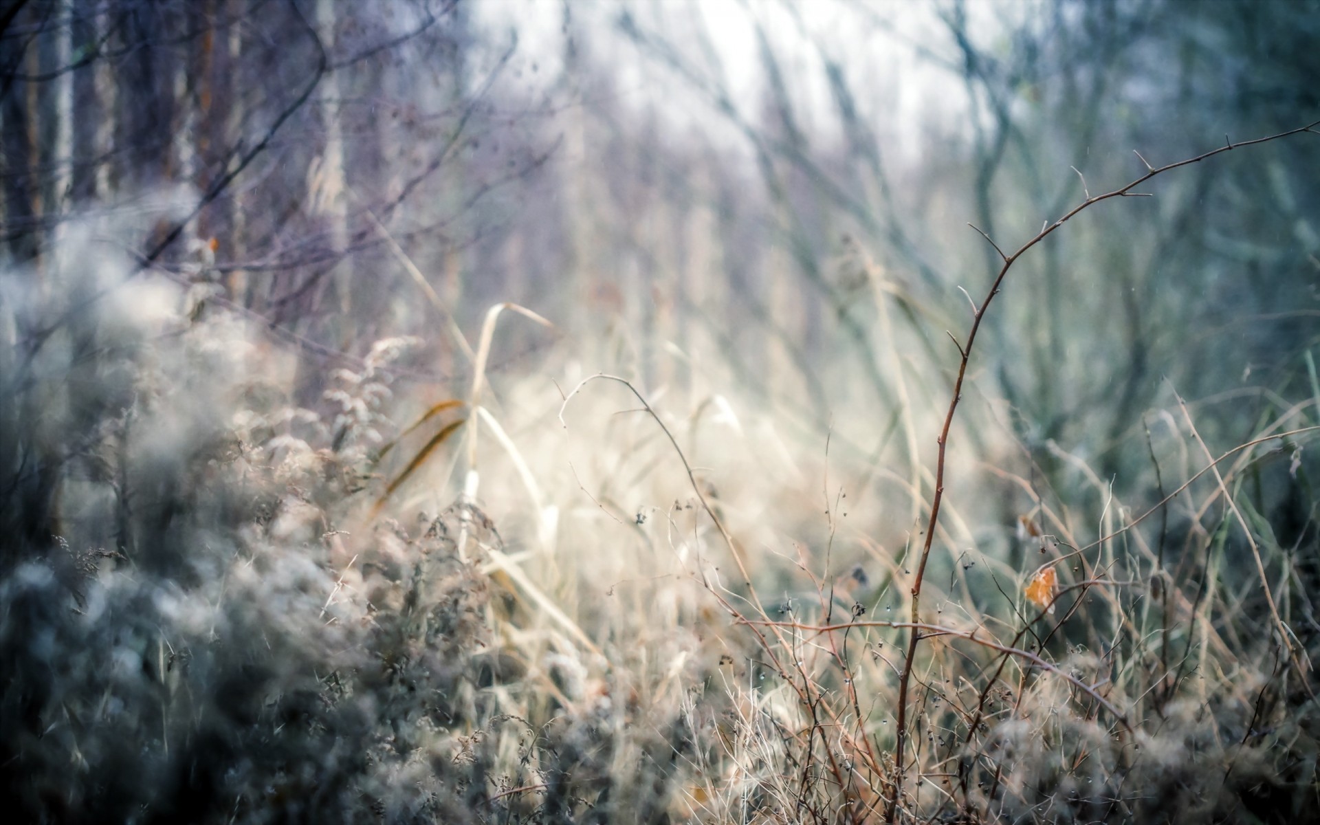
[[[38,282],[70,223],[137,215],[121,252],[216,284],[279,346],[421,334],[436,381],[466,368],[445,313],[473,335],[516,301],[648,388],[737,388],[867,446],[895,370],[945,388],[957,288],[979,300],[998,263],[968,223],[1015,248],[1084,181],[1140,173],[1134,150],[1315,107],[1305,3],[70,0],[3,22],[4,243]],[[1162,376],[1308,389],[1309,152],[1188,169],[1027,256],[977,393],[1122,483]],[[496,368],[552,338],[506,331]]]

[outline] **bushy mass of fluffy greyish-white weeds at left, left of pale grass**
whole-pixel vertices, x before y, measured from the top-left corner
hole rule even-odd
[[[664,817],[647,766],[665,719],[510,713],[520,680],[553,680],[491,655],[484,513],[364,524],[389,366],[413,341],[376,343],[306,408],[292,355],[182,290],[108,265],[48,279],[0,290],[11,817]]]

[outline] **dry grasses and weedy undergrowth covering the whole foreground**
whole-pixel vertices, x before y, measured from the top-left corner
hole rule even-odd
[[[879,466],[700,359],[686,407],[573,342],[487,376],[502,310],[545,323],[512,305],[463,342],[458,395],[403,384],[396,338],[309,396],[312,367],[205,297],[74,260],[3,290],[21,821],[1320,809],[1320,388],[1213,449],[1170,388],[1121,496],[1064,445],[1036,466],[979,391],[954,416],[999,281],[954,375],[896,362],[908,449]],[[950,387],[941,429],[919,405]]]

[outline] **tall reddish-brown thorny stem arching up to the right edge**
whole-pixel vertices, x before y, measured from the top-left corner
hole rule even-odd
[[[899,800],[903,797],[903,750],[907,746],[908,684],[912,681],[912,667],[916,659],[916,645],[923,638],[920,631],[923,630],[923,627],[929,627],[921,624],[919,615],[920,602],[921,602],[921,582],[925,577],[925,565],[931,558],[931,546],[935,543],[935,528],[940,520],[940,504],[944,499],[944,469],[945,469],[945,454],[949,444],[949,430],[953,426],[953,414],[958,409],[958,401],[962,400],[962,384],[966,380],[968,364],[972,360],[972,351],[973,347],[975,346],[977,333],[981,331],[981,322],[985,319],[986,310],[990,308],[990,302],[994,300],[994,297],[999,294],[999,288],[1003,285],[1003,279],[1005,276],[1008,275],[1008,269],[1011,269],[1012,264],[1016,263],[1018,259],[1022,257],[1028,249],[1031,249],[1038,243],[1052,235],[1055,230],[1061,227],[1064,223],[1072,219],[1073,215],[1081,213],[1084,209],[1088,209],[1090,206],[1094,206],[1096,203],[1100,203],[1101,201],[1107,201],[1110,198],[1142,197],[1146,193],[1135,193],[1133,190],[1158,174],[1163,174],[1171,169],[1177,169],[1180,166],[1189,166],[1192,164],[1197,164],[1209,157],[1214,157],[1221,152],[1230,152],[1241,147],[1263,144],[1272,140],[1279,140],[1282,137],[1299,135],[1302,132],[1313,132],[1315,127],[1317,125],[1320,125],[1320,120],[1309,123],[1296,129],[1279,132],[1278,135],[1271,135],[1269,137],[1258,137],[1255,140],[1246,140],[1236,144],[1232,141],[1226,141],[1225,145],[1220,147],[1218,149],[1212,149],[1210,152],[1197,154],[1196,157],[1176,161],[1173,164],[1167,164],[1164,166],[1152,168],[1150,164],[1146,164],[1147,169],[1146,174],[1134,180],[1131,183],[1127,183],[1126,186],[1114,189],[1113,191],[1106,191],[1100,195],[1088,195],[1081,203],[1078,203],[1072,210],[1065,213],[1061,218],[1059,218],[1053,223],[1047,223],[1044,227],[1041,227],[1041,230],[1036,232],[1035,236],[1032,236],[1027,243],[1022,244],[1018,248],[1018,251],[1014,252],[1012,255],[1003,256],[1003,253],[1001,252],[1001,256],[1003,256],[1003,267],[999,268],[999,275],[995,276],[994,282],[990,285],[990,290],[986,293],[985,300],[981,301],[981,306],[977,308],[975,312],[973,313],[972,329],[968,331],[966,343],[960,347],[958,376],[953,383],[953,396],[949,400],[949,409],[944,416],[944,426],[940,430],[940,437],[936,440],[936,442],[939,444],[939,455],[936,457],[936,465],[935,465],[935,495],[931,499],[931,517],[927,521],[925,541],[921,546],[921,558],[917,562],[916,577],[912,579],[912,589],[911,589],[912,620],[907,623],[907,626],[911,628],[911,634],[908,636],[907,656],[903,660],[903,672],[899,676],[898,735],[894,746],[894,797],[890,800],[888,809],[886,812],[886,821],[888,822],[896,821],[899,812]],[[1144,162],[1146,161],[1143,158],[1143,164]],[[990,243],[991,246],[994,246],[993,240]],[[997,251],[998,248],[999,247],[995,246]],[[1028,656],[1031,656],[1032,659],[1038,659],[1034,655]],[[1094,698],[1100,700],[1107,710],[1114,713],[1115,717],[1122,718],[1122,715],[1118,714],[1118,711],[1113,709],[1113,706],[1109,705],[1107,701],[1102,700],[1098,694],[1093,693],[1093,696]],[[1126,722],[1123,723],[1126,726]]]

